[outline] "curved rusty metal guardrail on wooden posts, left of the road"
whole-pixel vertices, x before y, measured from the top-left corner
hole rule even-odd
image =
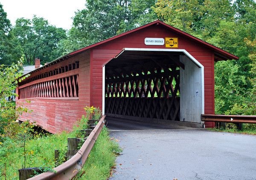
[[[90,154],[93,145],[98,138],[105,123],[105,115],[99,120],[96,127],[90,133],[80,150],[65,163],[54,168],[55,172],[44,172],[29,180],[70,180],[78,174]]]

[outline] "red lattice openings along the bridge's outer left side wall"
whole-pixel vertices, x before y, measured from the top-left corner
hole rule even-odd
[[[22,82],[19,99],[72,98],[79,94],[79,61],[67,66],[41,73]]]

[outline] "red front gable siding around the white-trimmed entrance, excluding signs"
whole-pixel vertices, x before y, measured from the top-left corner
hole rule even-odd
[[[205,85],[205,113],[214,113],[214,54],[211,50],[171,32],[169,29],[154,25],[147,29],[138,30],[121,38],[92,48],[91,52],[91,105],[102,107],[102,67],[114,58],[123,48],[163,48],[163,46],[147,46],[144,38],[179,38],[178,49],[186,49],[195,59],[204,66]],[[212,123],[206,124],[207,127]]]

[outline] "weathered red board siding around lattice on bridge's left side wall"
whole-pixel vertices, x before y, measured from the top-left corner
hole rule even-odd
[[[26,121],[29,119],[30,122],[36,122],[51,133],[72,130],[73,125],[84,114],[83,107],[90,106],[90,51],[54,64],[31,76],[54,70],[75,61],[79,61],[78,99],[34,98],[29,99],[30,103],[27,103],[26,99],[19,99],[17,100],[18,105],[23,103],[24,107],[32,110],[32,113],[23,113],[19,120]]]

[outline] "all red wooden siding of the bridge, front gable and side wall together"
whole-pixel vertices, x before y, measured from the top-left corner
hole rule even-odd
[[[74,123],[84,114],[83,107],[93,105],[102,108],[102,67],[108,61],[111,61],[123,48],[165,49],[164,45],[147,46],[144,44],[144,38],[165,37],[179,38],[179,49],[186,49],[204,66],[205,113],[214,113],[214,54],[212,50],[191,38],[176,34],[166,26],[154,24],[99,44],[80,54],[74,54],[67,60],[33,73],[31,77],[79,61],[79,98],[70,100],[34,98],[30,99],[31,103],[19,99],[17,103],[24,103],[25,107],[33,110],[32,113],[24,113],[20,116],[20,120],[36,121],[38,125],[52,133],[70,131]],[[206,123],[206,127],[213,125],[213,123]]]

